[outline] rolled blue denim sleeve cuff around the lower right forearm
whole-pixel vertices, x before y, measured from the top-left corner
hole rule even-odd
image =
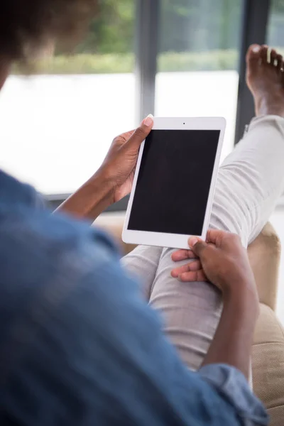
[[[200,368],[200,376],[213,386],[234,406],[244,425],[267,425],[268,414],[263,405],[253,395],[249,383],[234,367],[224,364],[211,364]]]

